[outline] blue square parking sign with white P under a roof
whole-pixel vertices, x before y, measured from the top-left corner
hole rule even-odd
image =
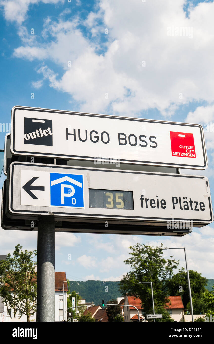
[[[50,173],[50,205],[84,208],[83,175]]]

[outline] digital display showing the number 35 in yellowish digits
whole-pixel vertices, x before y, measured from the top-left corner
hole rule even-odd
[[[111,208],[134,210],[133,192],[89,189],[90,208]]]

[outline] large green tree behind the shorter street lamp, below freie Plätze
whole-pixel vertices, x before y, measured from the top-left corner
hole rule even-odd
[[[173,275],[173,269],[179,265],[174,259],[162,257],[162,247],[136,244],[131,246],[130,258],[124,260],[125,264],[131,266],[132,271],[126,273],[119,282],[120,291],[123,295],[133,295],[140,298],[146,314],[153,313],[151,284],[140,282],[153,282],[155,311],[163,309],[168,299],[167,281]],[[172,256],[170,256],[172,258]]]

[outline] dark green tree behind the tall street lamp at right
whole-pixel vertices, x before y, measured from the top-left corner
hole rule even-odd
[[[194,314],[205,313],[207,304],[204,303],[202,294],[205,292],[207,278],[202,277],[201,273],[189,270],[190,287],[192,294],[193,312]],[[190,310],[190,295],[188,289],[187,272],[184,268],[179,269],[179,272],[172,276],[167,283],[169,295],[180,295],[185,309]]]

